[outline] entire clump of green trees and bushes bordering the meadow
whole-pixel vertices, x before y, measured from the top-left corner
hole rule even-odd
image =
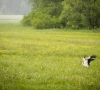
[[[22,23],[35,28],[100,27],[99,0],[30,0],[32,10]]]

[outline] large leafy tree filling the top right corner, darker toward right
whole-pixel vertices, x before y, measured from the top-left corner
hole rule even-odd
[[[99,0],[64,0],[60,16],[66,27],[95,28],[99,27]],[[65,20],[65,21],[64,21]]]

